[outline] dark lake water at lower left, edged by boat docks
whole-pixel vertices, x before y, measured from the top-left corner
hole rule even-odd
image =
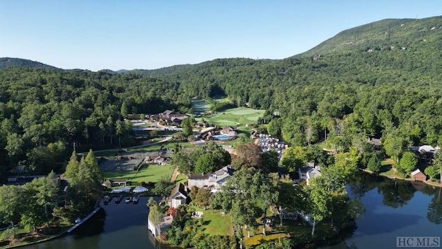
[[[140,197],[137,204],[124,203],[124,201],[116,204],[113,199],[108,205],[102,205],[102,210],[79,226],[72,234],[24,248],[167,249],[169,247],[155,241],[153,235],[147,230],[146,203],[148,198]]]

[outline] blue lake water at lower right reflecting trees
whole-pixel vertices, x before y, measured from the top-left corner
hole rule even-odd
[[[424,183],[358,175],[347,191],[360,198],[365,214],[343,241],[321,248],[396,248],[396,237],[441,237],[441,188]]]

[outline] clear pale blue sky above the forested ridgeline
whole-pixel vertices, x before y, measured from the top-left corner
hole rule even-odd
[[[441,0],[0,0],[0,57],[92,71],[282,59],[372,21],[437,15]]]

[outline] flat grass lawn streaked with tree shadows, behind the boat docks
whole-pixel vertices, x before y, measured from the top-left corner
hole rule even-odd
[[[156,183],[163,176],[171,177],[173,165],[148,165],[142,167],[139,172],[136,171],[103,171],[104,178],[128,178],[133,183]]]

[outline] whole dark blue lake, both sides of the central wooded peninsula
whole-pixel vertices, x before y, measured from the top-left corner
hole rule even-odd
[[[396,237],[442,235],[440,188],[358,174],[347,191],[363,201],[365,214],[340,243],[320,248],[396,248]],[[73,234],[26,248],[168,248],[146,228],[147,200],[141,197],[136,205],[111,201]]]

